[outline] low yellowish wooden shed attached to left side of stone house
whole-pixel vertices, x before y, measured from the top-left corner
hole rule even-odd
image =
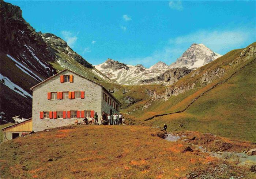
[[[8,127],[4,127],[2,130],[3,142],[26,135],[32,131],[32,118]]]

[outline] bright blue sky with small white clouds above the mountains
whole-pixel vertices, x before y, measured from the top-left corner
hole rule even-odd
[[[53,33],[92,64],[150,67],[192,43],[225,54],[256,41],[256,1],[15,1],[36,31]]]

